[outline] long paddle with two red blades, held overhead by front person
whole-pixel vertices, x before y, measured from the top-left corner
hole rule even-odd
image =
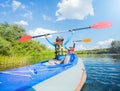
[[[104,22],[97,22],[89,27],[84,27],[84,28],[76,28],[76,29],[72,29],[72,30],[68,30],[68,31],[64,31],[64,32],[57,32],[57,33],[48,33],[48,34],[43,34],[43,35],[38,35],[38,36],[30,36],[30,35],[26,35],[26,36],[22,36],[19,41],[20,42],[26,42],[28,40],[31,40],[32,38],[37,38],[37,37],[42,37],[42,36],[46,36],[46,35],[52,35],[52,34],[59,34],[59,33],[65,33],[65,32],[72,32],[72,31],[78,31],[78,30],[84,30],[84,29],[90,29],[90,28],[94,28],[94,29],[100,29],[100,28],[108,28],[111,27],[112,23],[109,21],[104,21]]]

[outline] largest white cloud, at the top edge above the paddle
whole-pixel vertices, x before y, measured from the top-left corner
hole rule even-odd
[[[62,0],[57,4],[57,20],[79,19],[83,20],[86,16],[93,16],[94,9],[92,0]]]

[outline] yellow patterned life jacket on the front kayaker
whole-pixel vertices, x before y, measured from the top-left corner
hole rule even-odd
[[[57,45],[57,44],[55,45],[55,54],[56,54],[56,56],[65,55],[67,53],[68,53],[68,51],[67,51],[67,49],[64,49],[63,45],[62,46]]]

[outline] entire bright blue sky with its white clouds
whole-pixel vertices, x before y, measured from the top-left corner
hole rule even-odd
[[[112,27],[86,29],[73,33],[68,47],[74,40],[91,38],[91,42],[76,43],[76,50],[110,47],[113,40],[120,40],[120,0],[0,0],[0,23],[19,24],[31,36],[58,32],[66,40],[71,33],[59,34],[75,28],[84,28],[97,22],[110,21]],[[36,38],[47,47],[53,47],[44,37]]]

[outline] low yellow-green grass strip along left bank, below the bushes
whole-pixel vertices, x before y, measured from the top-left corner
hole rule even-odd
[[[54,57],[54,52],[46,51],[25,56],[0,56],[0,71],[36,64]]]

